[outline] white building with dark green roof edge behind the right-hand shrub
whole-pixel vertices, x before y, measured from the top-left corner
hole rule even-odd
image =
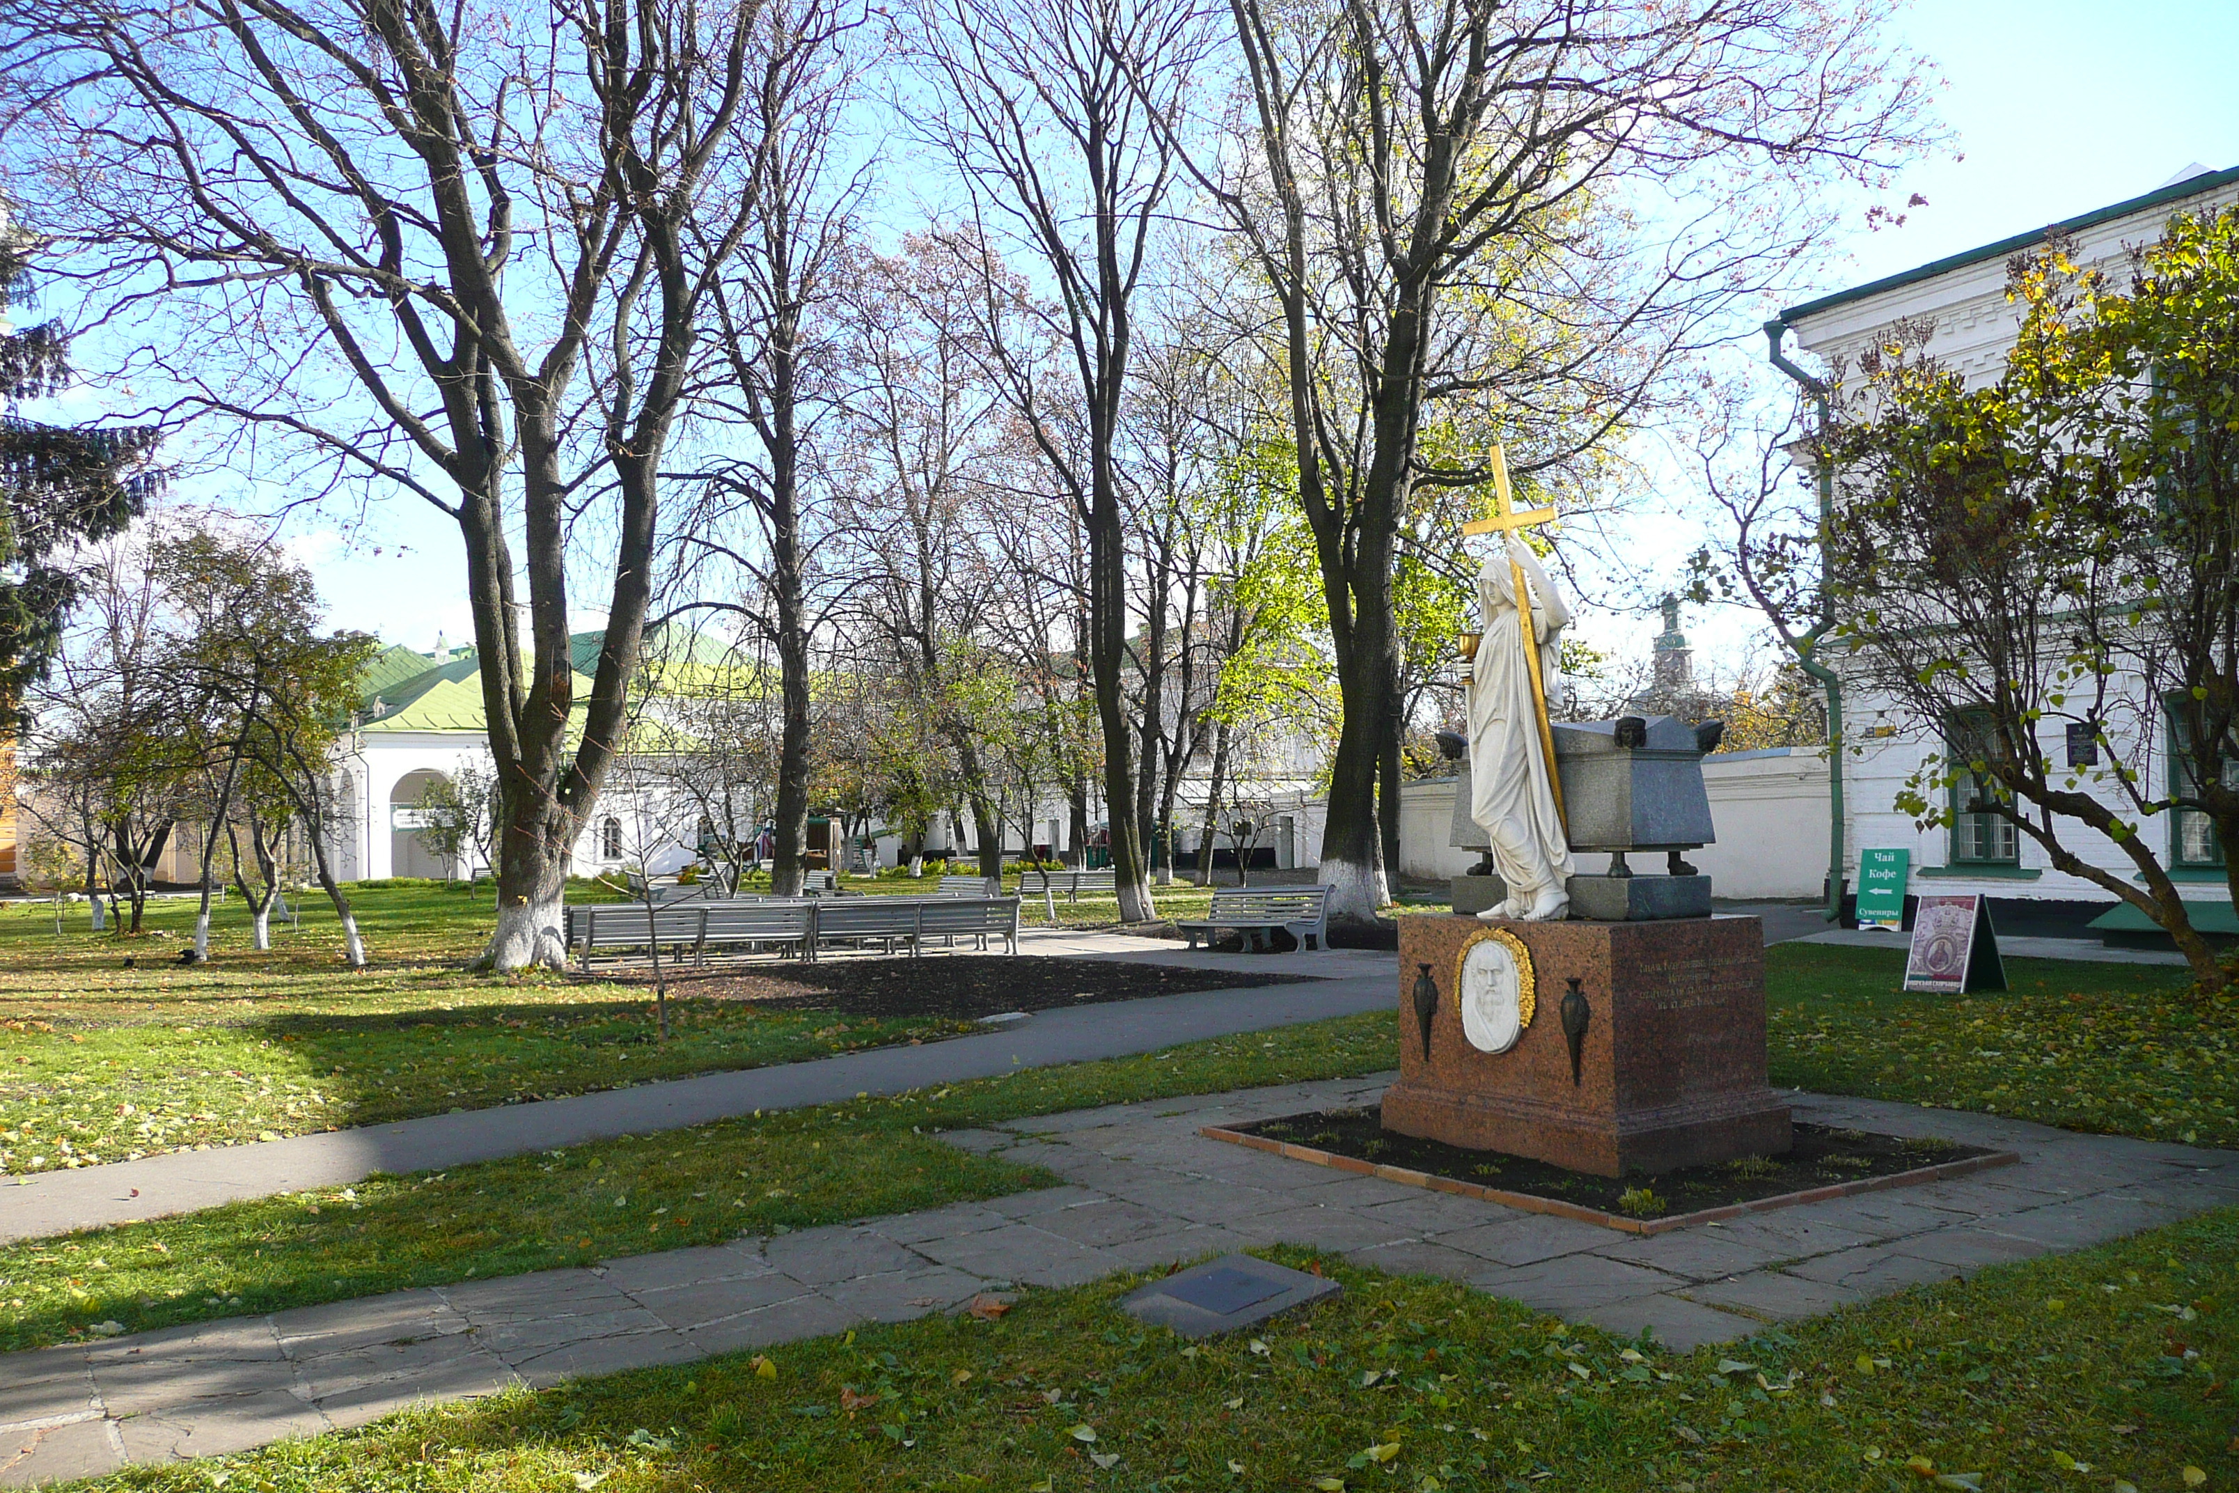
[[[2053,224],[2073,235],[2073,257],[2080,266],[2102,266],[2120,282],[2132,248],[2161,237],[2163,224],[2176,213],[2214,213],[2239,201],[2239,168],[2208,172],[2188,168],[2170,184],[2129,201]],[[1926,351],[1968,383],[1995,381],[2020,331],[2020,309],[2006,300],[2006,260],[2044,242],[2044,231],[2022,233],[1997,244],[1937,260],[1901,275],[1874,280],[1849,291],[1825,295],[1780,316],[1791,331],[1791,345],[1818,360],[1820,369],[1840,378],[1858,367],[1858,356],[1892,338],[1899,325],[1932,327]],[[1961,815],[1950,828],[1917,830],[1910,815],[1894,808],[1905,779],[1930,757],[1941,754],[1941,741],[1896,734],[1894,716],[1872,696],[1847,694],[1845,736],[1863,748],[1863,757],[1843,763],[1845,777],[1845,875],[1856,886],[1861,848],[1903,848],[1912,855],[1914,891],[1973,891],[1993,898],[1999,927],[2013,931],[2078,931],[2080,924],[2114,909],[2114,900],[2085,877],[2053,871],[2044,851],[2029,837],[1990,815]],[[2132,685],[2132,698],[2143,694]],[[2152,716],[2152,712],[2145,712]],[[2049,743],[2058,752],[2060,743]],[[2167,770],[2167,752],[2154,752],[2154,772]],[[2149,792],[2163,792],[2152,786]],[[2230,898],[2226,873],[2210,835],[2188,826],[2190,815],[2163,815],[2147,833],[2165,837],[2163,864],[2174,877],[2194,882],[2201,902],[2199,924],[2208,931],[2230,931]],[[1724,821],[1720,824],[1724,839]],[[2064,830],[2071,848],[2093,866],[2132,875],[2134,866],[2114,844],[2082,830]],[[2190,900],[2192,891],[2188,891]],[[2143,922],[2143,920],[2140,920]]]

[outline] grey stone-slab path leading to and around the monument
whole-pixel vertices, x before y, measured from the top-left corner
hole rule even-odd
[[[1292,1242],[1675,1348],[2239,1202],[2239,1153],[1870,1099],[1800,1117],[2022,1153],[2020,1166],[1652,1238],[1209,1142],[1214,1121],[1373,1101],[1388,1074],[952,1135],[1064,1186],[723,1247],[396,1292],[0,1356],[0,1484],[81,1477],[488,1395]]]

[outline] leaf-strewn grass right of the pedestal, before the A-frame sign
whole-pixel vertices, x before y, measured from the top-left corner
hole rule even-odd
[[[1773,1083],[2239,1146],[2239,998],[2185,969],[2011,958],[2008,992],[1903,994],[1903,954],[1764,954]]]

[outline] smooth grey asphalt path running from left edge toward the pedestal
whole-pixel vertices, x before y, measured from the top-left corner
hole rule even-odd
[[[1144,945],[1151,947],[1144,949]],[[1108,1001],[1039,1012],[985,1036],[958,1036],[920,1048],[873,1048],[806,1063],[636,1083],[573,1099],[457,1110],[385,1126],[327,1130],[249,1146],[213,1146],[78,1171],[43,1171],[0,1186],[0,1242],[190,1213],[311,1186],[347,1186],[376,1171],[441,1171],[526,1151],[580,1146],[613,1135],[681,1130],[755,1110],[833,1104],[862,1092],[896,1095],[909,1088],[985,1079],[1017,1068],[1052,1068],[1158,1052],[1207,1036],[1350,1016],[1388,1007],[1395,1001],[1390,954],[1332,949],[1303,956],[1191,956],[1180,945],[1167,949],[1146,938],[1115,933],[1057,933],[1030,947],[1039,954],[1314,974],[1321,978],[1296,985]]]

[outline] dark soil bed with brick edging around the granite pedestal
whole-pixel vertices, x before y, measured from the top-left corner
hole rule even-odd
[[[1231,1126],[1245,1135],[1312,1146],[1334,1155],[1373,1162],[1377,1166],[1406,1166],[1433,1177],[1453,1182],[1476,1182],[1498,1186],[1509,1193],[1531,1198],[1554,1198],[1603,1213],[1632,1218],[1657,1218],[1661,1213],[1697,1213],[1733,1202],[1755,1202],[1802,1193],[1834,1182],[1863,1182],[1867,1177],[1890,1177],[1921,1166],[1964,1162],[1990,1155],[1982,1146],[1959,1146],[1943,1139],[1912,1139],[1896,1135],[1872,1135],[1867,1130],[1832,1130],[1827,1126],[1796,1126],[1796,1148],[1776,1157],[1744,1157],[1713,1166],[1684,1166],[1657,1173],[1655,1177],[1594,1177],[1583,1171],[1567,1171],[1549,1162],[1502,1155],[1496,1151],[1464,1151],[1444,1142],[1426,1142],[1413,1135],[1393,1135],[1384,1128],[1375,1106],[1364,1110],[1319,1110],[1312,1115],[1285,1115],[1256,1126]],[[1648,1186],[1664,1206],[1623,1206],[1626,1189]]]

